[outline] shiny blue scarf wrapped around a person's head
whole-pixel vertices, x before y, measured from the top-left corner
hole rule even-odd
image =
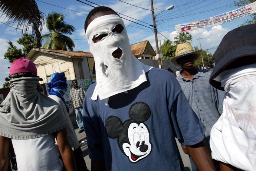
[[[63,103],[66,105],[67,111],[69,113],[69,108],[63,95],[66,93],[68,88],[67,78],[61,73],[54,73],[50,76],[50,83],[47,83],[47,90],[50,95],[57,95]]]

